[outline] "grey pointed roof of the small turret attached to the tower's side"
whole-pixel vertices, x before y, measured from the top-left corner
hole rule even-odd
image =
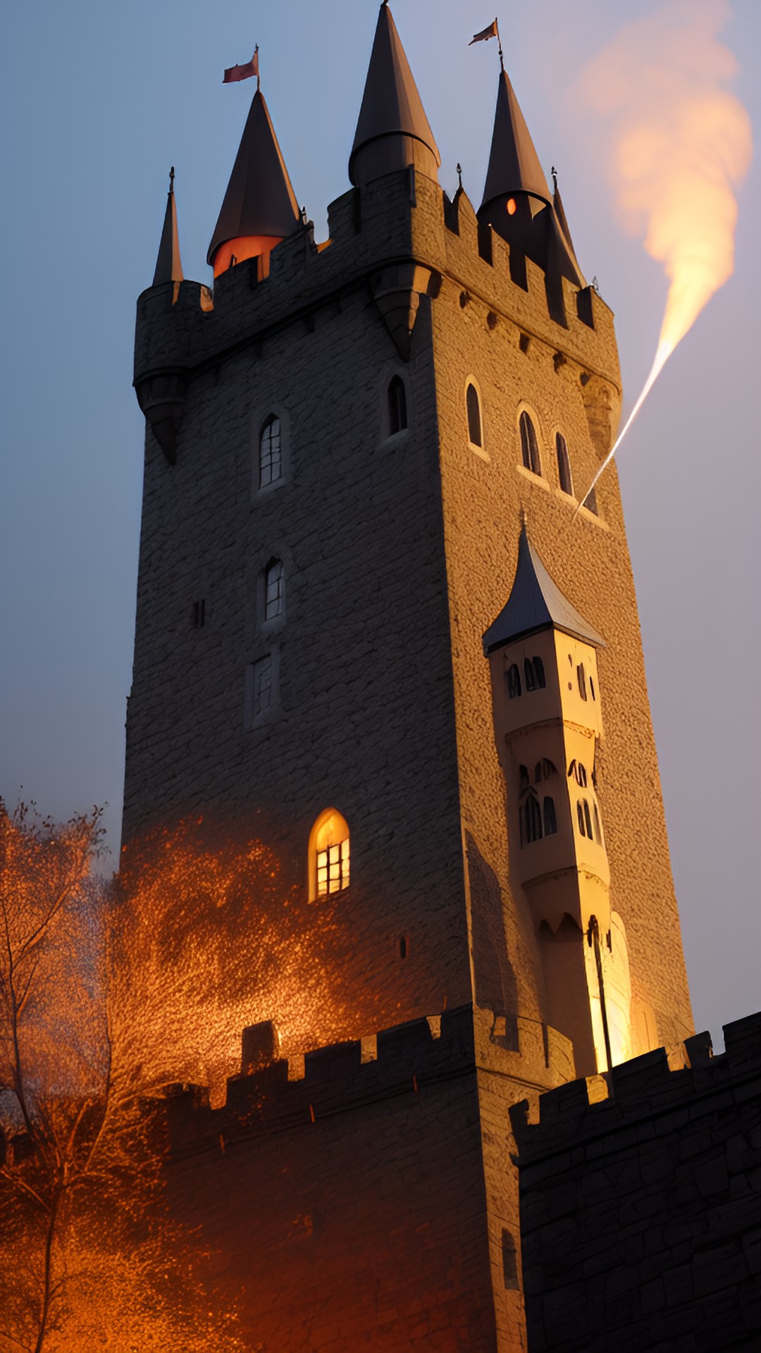
[[[489,656],[521,635],[550,626],[574,635],[585,644],[605,647],[603,636],[586,624],[552,582],[524,526],[517,547],[517,568],[510,595],[506,606],[483,635],[483,652]]]

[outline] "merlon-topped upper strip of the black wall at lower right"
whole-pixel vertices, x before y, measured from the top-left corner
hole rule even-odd
[[[685,1109],[692,1119],[703,1100],[710,1104],[718,1092],[729,1092],[730,1084],[737,1095],[739,1082],[760,1078],[761,1012],[724,1024],[724,1051],[718,1057],[712,1055],[710,1034],[695,1034],[670,1054],[659,1047],[615,1066],[605,1097],[590,1095],[586,1080],[559,1085],[539,1097],[538,1123],[528,1122],[527,1100],[515,1104],[510,1123],[519,1164],[531,1168],[543,1162],[543,1170],[557,1168],[559,1173],[567,1168],[571,1141],[599,1153],[605,1138],[611,1150],[620,1149],[638,1124],[651,1135],[653,1118],[659,1114]],[[592,1080],[600,1089],[603,1078]]]

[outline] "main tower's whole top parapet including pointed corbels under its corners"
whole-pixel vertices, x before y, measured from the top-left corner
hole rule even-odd
[[[297,226],[268,254],[267,268],[261,257],[238,262],[217,277],[214,292],[194,281],[142,292],[134,386],[169,460],[191,380],[241,350],[261,350],[283,327],[310,331],[318,311],[340,310],[357,290],[375,300],[405,361],[414,353],[421,298],[447,303],[455,296],[463,307],[481,308],[485,326],[515,329],[516,344],[542,344],[557,363],[575,364],[584,383],[603,387],[594,398],[616,417],[620,375],[605,303],[593,288],[578,290],[563,277],[559,323],[542,268],[528,260],[516,281],[509,245],[479,225],[464,193],[452,214],[429,177],[412,168],[397,170],[332,203],[329,229],[329,239],[317,245],[310,223]]]

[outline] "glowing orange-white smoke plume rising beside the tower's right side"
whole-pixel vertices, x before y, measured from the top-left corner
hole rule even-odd
[[[622,28],[581,76],[584,101],[609,129],[620,222],[669,279],[653,368],[593,484],[665,361],[734,271],[735,188],[750,165],[752,134],[727,89],[738,64],[719,34],[730,16],[727,0],[668,0]]]

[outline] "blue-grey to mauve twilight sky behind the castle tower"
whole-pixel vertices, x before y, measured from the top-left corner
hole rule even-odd
[[[489,5],[393,4],[440,183],[454,191],[459,160],[474,206],[498,61],[494,42],[467,42],[490,23]],[[616,313],[624,413],[650,369],[666,283],[623,231],[605,119],[582,107],[578,78],[631,20],[653,15],[657,34],[674,9],[701,7],[727,12],[731,88],[758,141],[758,0],[540,0],[500,15],[505,64],[547,173],[559,169],[581,267]],[[134,304],[153,276],[168,169],[186,277],[207,281],[253,93],[251,81],[222,87],[222,70],[259,42],[294,189],[322,239],[326,204],[348,188],[375,18],[375,0],[26,0],[5,15],[0,794],[14,804],[22,793],[54,817],[108,802],[114,851],[142,479]],[[723,1023],[761,1007],[760,239],[754,160],[739,189],[735,275],[672,357],[619,459],[695,1020],[716,1046]]]

